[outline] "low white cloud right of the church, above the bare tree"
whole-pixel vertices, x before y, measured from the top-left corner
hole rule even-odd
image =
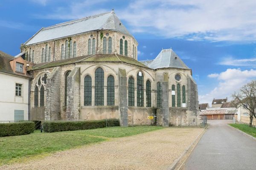
[[[210,76],[211,75],[211,76]],[[231,100],[231,95],[241,88],[242,85],[256,79],[256,70],[230,69],[221,72],[220,74],[209,74],[208,77],[217,78],[218,85],[208,94],[199,95],[200,103],[211,103],[212,99],[223,99],[228,97]]]

